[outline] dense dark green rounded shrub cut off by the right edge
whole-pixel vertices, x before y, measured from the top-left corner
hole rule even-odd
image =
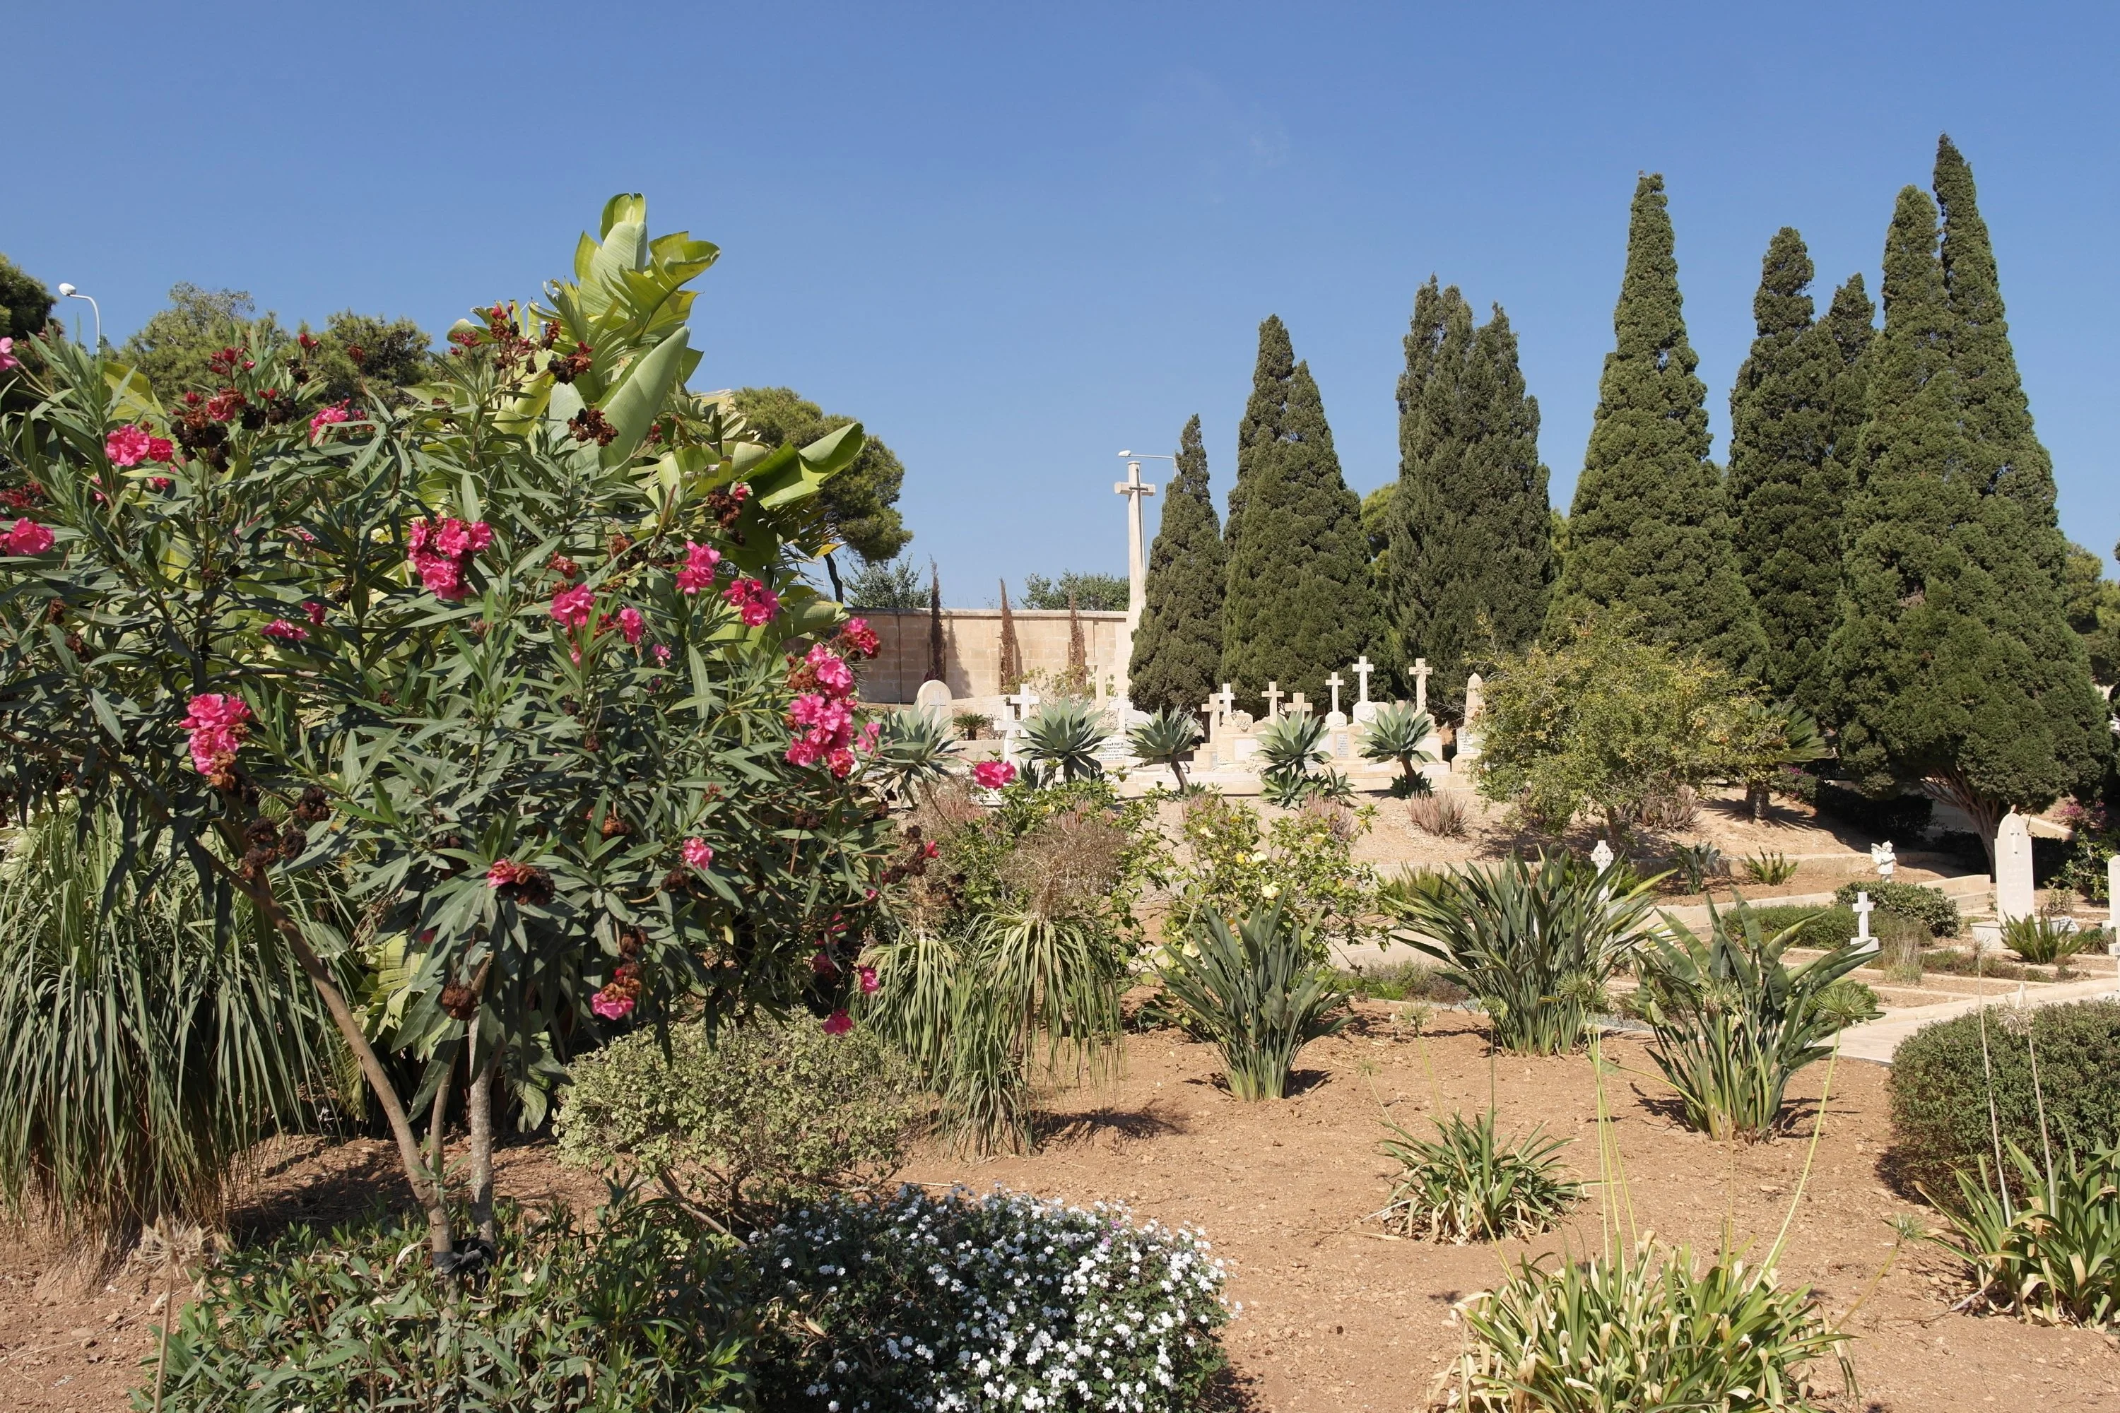
[[[2037,1099],[2033,1055],[2039,1063]],[[2088,1152],[2120,1142],[2120,1002],[2086,1000],[2029,1010],[1991,1006],[1984,1015],[1953,1017],[1908,1036],[1891,1061],[1895,1176],[1938,1201],[1948,1199],[1953,1169],[1995,1159],[1995,1129],[2003,1144],[2039,1152],[2042,1104],[2056,1150]]]

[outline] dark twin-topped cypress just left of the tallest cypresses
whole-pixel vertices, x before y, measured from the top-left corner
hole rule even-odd
[[[1861,428],[1870,299],[1861,275],[1813,322],[1810,252],[1781,227],[1760,265],[1757,337],[1730,390],[1730,508],[1736,557],[1766,633],[1760,676],[1806,710],[1823,708],[1821,657],[1840,589],[1840,511]]]

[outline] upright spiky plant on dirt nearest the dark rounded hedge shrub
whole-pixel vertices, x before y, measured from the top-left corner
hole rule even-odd
[[[1868,960],[1855,943],[1791,970],[1781,953],[1802,924],[1766,936],[1743,900],[1709,907],[1709,936],[1664,915],[1643,964],[1643,1015],[1656,1038],[1649,1059],[1677,1091],[1685,1127],[1755,1144],[1772,1138],[1796,1074],[1832,1053],[1844,1023],[1834,981]]]

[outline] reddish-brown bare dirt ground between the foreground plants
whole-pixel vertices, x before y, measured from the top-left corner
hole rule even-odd
[[[1439,1013],[1429,1036],[1416,1038],[1391,1021],[1393,1010],[1363,1002],[1359,1025],[1304,1053],[1300,1091],[1278,1104],[1232,1099],[1211,1047],[1177,1032],[1128,1036],[1121,1078],[1056,1095],[1054,1133],[1037,1157],[958,1161],[929,1152],[903,1176],[973,1188],[999,1182],[1077,1203],[1124,1201],[1138,1218],[1202,1227],[1230,1260],[1230,1296],[1242,1301],[1227,1343],[1253,1409],[1420,1409],[1435,1371],[1459,1349],[1452,1303],[1495,1282],[1518,1256],[1554,1252],[1562,1241],[1596,1248],[1601,1205],[1592,1199],[1565,1233],[1529,1244],[1386,1239],[1367,1220],[1391,1180],[1376,1150],[1380,1119],[1418,1131],[1437,1108],[1484,1106],[1492,1085],[1505,1131],[1543,1123],[1575,1140],[1567,1157],[1590,1174],[1596,1108],[1586,1057],[1490,1061],[1476,1017]],[[1794,1087],[1800,1133],[1732,1150],[1673,1125],[1637,1042],[1611,1040],[1609,1057],[1620,1066],[1607,1099],[1632,1227],[1696,1250],[1717,1248],[1728,1229],[1764,1254],[1796,1199],[1825,1068]],[[1929,1248],[1893,1250],[1889,1218],[1927,1212],[1883,1176],[1885,1085],[1883,1068],[1836,1068],[1817,1163],[1781,1258],[1781,1277],[1813,1284],[1855,1337],[1861,1392],[1840,1407],[2120,1409],[2120,1341],[1950,1313],[1961,1290],[1948,1265]],[[382,1144],[288,1142],[235,1227],[254,1235],[290,1220],[346,1220],[399,1191]],[[594,1176],[558,1167],[543,1144],[502,1152],[500,1191],[583,1208],[602,1195]],[[127,1407],[151,1352],[159,1284],[129,1273],[81,1299],[40,1294],[36,1273],[30,1250],[0,1260],[0,1396],[13,1409]],[[1825,1381],[1838,1388],[1830,1371]]]

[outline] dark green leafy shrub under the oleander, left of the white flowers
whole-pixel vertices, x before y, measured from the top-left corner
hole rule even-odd
[[[170,1332],[170,1413],[488,1409],[691,1413],[742,1394],[738,1246],[615,1195],[579,1227],[502,1205],[490,1271],[452,1294],[424,1222],[297,1227],[235,1248]],[[148,1392],[136,1409],[153,1407]]]

